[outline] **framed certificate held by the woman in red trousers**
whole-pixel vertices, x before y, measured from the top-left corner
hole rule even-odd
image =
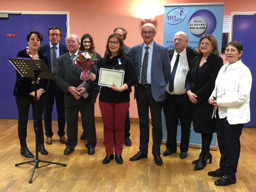
[[[124,71],[114,69],[100,69],[99,86],[113,86],[113,84],[122,87],[124,82]]]

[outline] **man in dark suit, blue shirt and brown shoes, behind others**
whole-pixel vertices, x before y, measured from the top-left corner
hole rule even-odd
[[[57,26],[52,26],[48,30],[48,38],[50,43],[40,46],[39,50],[47,55],[49,68],[53,75],[56,71],[56,61],[57,58],[68,52],[66,46],[59,43],[59,40],[62,37],[62,31]],[[67,142],[65,138],[65,107],[64,107],[64,94],[56,86],[55,80],[50,80],[49,88],[46,92],[45,105],[44,105],[44,121],[46,129],[46,144],[52,144],[52,129],[51,129],[51,112],[54,104],[54,98],[57,109],[57,118],[58,118],[58,136],[59,141],[62,144]]]

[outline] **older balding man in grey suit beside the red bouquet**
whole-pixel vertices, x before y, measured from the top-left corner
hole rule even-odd
[[[89,80],[83,87],[78,88],[83,81],[80,79],[81,69],[74,64],[74,59],[82,53],[78,49],[80,40],[77,35],[71,34],[65,41],[69,52],[57,58],[56,68],[56,84],[64,92],[67,117],[67,143],[64,155],[69,155],[77,145],[79,111],[82,124],[86,125],[87,153],[93,155],[96,146],[96,130],[93,125],[94,83]],[[83,96],[85,93],[89,94],[86,98]]]

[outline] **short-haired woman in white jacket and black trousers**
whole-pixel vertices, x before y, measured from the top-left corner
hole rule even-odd
[[[227,64],[219,70],[215,88],[209,97],[214,105],[212,117],[216,118],[216,131],[221,154],[219,169],[208,172],[209,176],[221,177],[217,186],[236,183],[237,165],[240,155],[240,136],[244,123],[250,121],[250,92],[252,74],[240,60],[243,45],[240,41],[227,44]]]

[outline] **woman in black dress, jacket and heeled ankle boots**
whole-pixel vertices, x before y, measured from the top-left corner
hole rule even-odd
[[[217,40],[212,35],[204,35],[198,43],[198,55],[192,61],[186,78],[186,90],[192,105],[193,127],[201,133],[202,150],[194,170],[204,169],[206,161],[211,163],[210,143],[212,133],[216,132],[215,119],[212,119],[213,106],[208,98],[214,89],[215,79],[223,60],[219,54]]]

